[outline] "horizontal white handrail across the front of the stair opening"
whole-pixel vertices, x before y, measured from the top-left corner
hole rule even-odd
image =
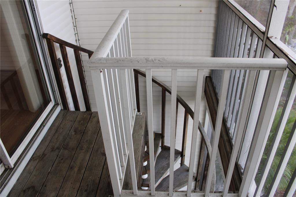
[[[288,66],[284,59],[221,57],[98,57],[87,64],[90,69],[286,70]]]

